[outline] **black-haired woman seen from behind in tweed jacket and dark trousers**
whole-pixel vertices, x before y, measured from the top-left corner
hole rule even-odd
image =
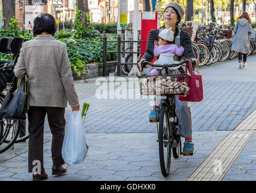
[[[33,180],[48,178],[43,167],[43,127],[47,114],[53,134],[51,154],[53,175],[67,171],[62,165],[62,144],[65,136],[65,107],[67,101],[72,112],[80,110],[75,91],[66,44],[54,39],[56,21],[51,14],[41,14],[34,19],[35,39],[22,44],[19,60],[14,68],[18,78],[28,75],[28,172],[34,172],[35,160],[40,161],[40,174]]]

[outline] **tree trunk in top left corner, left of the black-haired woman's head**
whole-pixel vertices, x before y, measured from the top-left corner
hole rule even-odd
[[[15,17],[15,1],[14,0],[2,0],[2,11],[4,13],[4,27],[9,28],[9,22],[11,17]]]

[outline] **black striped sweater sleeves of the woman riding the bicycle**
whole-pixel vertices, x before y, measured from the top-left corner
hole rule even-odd
[[[176,31],[174,33],[174,38],[178,35],[178,28],[176,28]],[[159,30],[151,30],[149,32],[149,37],[147,39],[147,48],[146,48],[146,53],[143,55],[143,58],[146,59],[147,61],[153,60],[154,57],[154,41],[158,40],[158,34]],[[181,31],[181,45],[184,47],[184,54],[182,57],[185,57],[186,59],[188,58],[194,58],[194,54],[192,52],[192,46],[191,46],[191,37],[188,33],[185,31]]]

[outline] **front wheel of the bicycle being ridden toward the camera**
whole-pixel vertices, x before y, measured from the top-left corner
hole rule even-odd
[[[169,110],[165,105],[161,106],[159,115],[159,160],[163,176],[168,176],[171,165]]]

